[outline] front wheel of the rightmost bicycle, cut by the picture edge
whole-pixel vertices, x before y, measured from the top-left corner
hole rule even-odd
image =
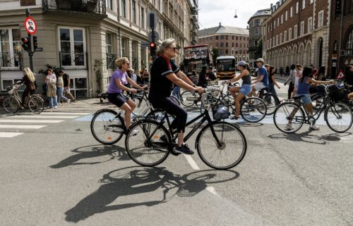
[[[352,110],[345,103],[335,103],[326,108],[325,120],[331,130],[346,132],[352,127]]]

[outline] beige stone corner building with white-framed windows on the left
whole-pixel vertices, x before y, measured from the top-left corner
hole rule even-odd
[[[192,2],[191,2],[192,1]],[[158,42],[173,37],[179,46],[196,39],[198,27],[196,0],[31,0],[0,1],[0,88],[23,77],[29,67],[21,37],[25,8],[36,20],[38,46],[34,72],[44,83],[46,65],[62,68],[71,76],[71,91],[76,97],[92,97],[104,90],[115,70],[116,58],[126,56],[136,73],[149,68],[148,15],[157,13]],[[192,15],[192,16],[191,16]],[[181,62],[182,56],[176,61]],[[41,87],[41,86],[40,86]]]

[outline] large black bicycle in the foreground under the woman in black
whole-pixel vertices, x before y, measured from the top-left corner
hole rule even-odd
[[[203,94],[201,101],[208,95],[210,94]],[[217,107],[214,109],[213,118],[218,118],[219,109]],[[221,115],[229,117],[227,107],[224,109],[225,112]],[[243,160],[247,148],[243,132],[237,126],[222,121],[223,117],[211,120],[209,111],[204,111],[186,123],[186,126],[189,126],[200,120],[184,138],[186,142],[207,121],[207,124],[198,132],[195,146],[198,155],[206,165],[220,170],[238,165]],[[164,126],[166,120],[169,130]],[[137,130],[138,133],[131,134],[134,130]],[[177,132],[172,130],[169,115],[164,112],[164,116],[159,122],[143,118],[133,123],[126,133],[125,146],[128,156],[134,162],[143,166],[155,166],[162,163],[169,153],[177,155],[173,152],[177,145],[176,140]]]

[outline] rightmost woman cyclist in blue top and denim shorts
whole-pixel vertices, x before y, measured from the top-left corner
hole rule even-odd
[[[309,117],[313,115],[313,103],[311,103],[311,98],[309,94],[309,89],[311,84],[333,84],[335,81],[316,81],[313,79],[313,68],[305,67],[303,70],[303,74],[298,81],[298,90],[297,96],[300,96],[301,101],[304,103],[304,107],[306,111],[309,113]],[[295,110],[297,111],[297,110]],[[294,113],[294,112],[293,112]],[[291,113],[291,115],[293,114]],[[309,130],[319,130],[320,127],[315,124],[310,125]],[[294,130],[292,125],[292,120],[288,120],[288,124],[285,126],[285,130]]]

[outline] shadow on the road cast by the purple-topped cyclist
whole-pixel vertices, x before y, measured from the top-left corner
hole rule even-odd
[[[95,165],[99,163],[105,163],[107,161],[111,161],[115,158],[118,158],[120,161],[130,160],[126,151],[121,146],[104,146],[104,145],[90,145],[90,146],[82,146],[77,149],[71,150],[74,154],[73,156],[69,156],[64,160],[56,163],[55,165],[50,165],[50,168],[58,169],[64,168],[69,165]],[[85,161],[81,162],[83,159],[92,159],[100,156],[110,156],[109,159],[104,161]]]

